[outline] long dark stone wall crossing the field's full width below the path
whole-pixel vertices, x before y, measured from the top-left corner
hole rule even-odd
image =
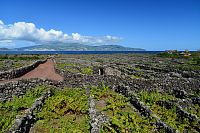
[[[160,79],[131,79],[130,77],[115,75],[83,75],[62,71],[60,69],[56,69],[56,72],[64,77],[64,81],[59,83],[61,87],[77,88],[87,85],[97,86],[103,82],[111,88],[113,88],[113,86],[129,86],[131,90],[135,92],[155,89],[168,93],[174,93],[174,90],[184,90],[187,93],[198,93],[200,91],[200,81],[193,78],[183,79],[169,76]],[[10,99],[12,95],[23,95],[27,89],[46,82],[49,84],[52,81],[35,79],[0,84],[0,100]]]

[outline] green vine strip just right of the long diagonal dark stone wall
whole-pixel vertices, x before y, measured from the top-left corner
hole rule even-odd
[[[197,132],[193,129],[193,126],[197,126],[196,123],[191,123],[188,119],[180,118],[176,115],[176,107],[173,106],[167,109],[164,106],[159,106],[156,103],[160,100],[170,101],[175,97],[168,94],[161,94],[158,91],[147,92],[143,91],[138,94],[140,100],[147,104],[150,109],[161,118],[162,121],[166,122],[169,126],[177,129],[180,132],[184,132],[187,129],[189,132]]]

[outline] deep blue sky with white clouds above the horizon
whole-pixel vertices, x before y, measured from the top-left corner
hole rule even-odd
[[[18,29],[34,24],[36,30],[31,33],[37,33],[28,36],[30,29],[26,34],[22,28],[19,36],[9,31],[2,37],[0,31],[0,47],[51,42],[55,35],[53,41],[67,39],[92,45],[200,49],[199,0],[1,0],[0,20],[2,34],[16,28],[17,22]],[[42,39],[40,28],[45,30]],[[49,32],[51,29],[54,31]]]

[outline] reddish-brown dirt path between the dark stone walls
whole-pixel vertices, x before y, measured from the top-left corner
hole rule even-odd
[[[21,79],[31,79],[31,78],[40,78],[40,79],[49,79],[55,81],[63,81],[63,77],[55,72],[54,61],[48,59],[45,63],[40,64],[38,67],[32,71],[24,74],[23,76],[11,80],[0,81],[0,83],[7,83],[11,81],[17,81]]]

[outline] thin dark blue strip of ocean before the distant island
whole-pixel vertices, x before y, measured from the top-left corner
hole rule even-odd
[[[157,54],[163,51],[0,51],[0,54]]]

